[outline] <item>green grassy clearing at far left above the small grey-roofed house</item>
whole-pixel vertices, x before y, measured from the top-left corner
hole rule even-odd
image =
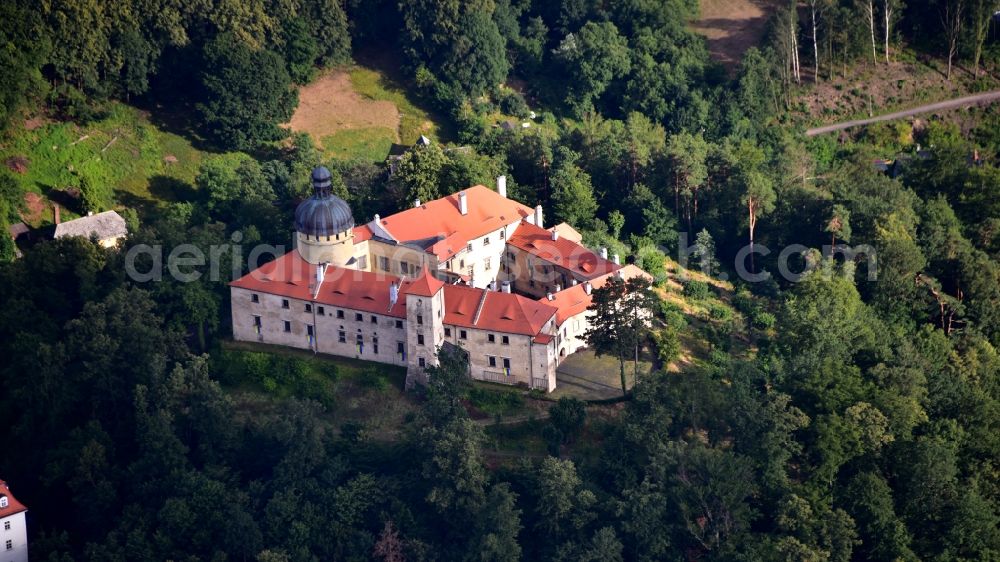
[[[37,120],[36,125],[12,127],[0,145],[0,161],[25,193],[44,198],[78,186],[84,176],[111,184],[118,201],[128,206],[189,199],[206,158],[187,139],[155,127],[145,113],[121,103],[110,103],[104,118],[86,125]],[[51,212],[41,210],[26,217],[28,222],[51,221]],[[67,209],[63,219],[73,218],[73,210]]]

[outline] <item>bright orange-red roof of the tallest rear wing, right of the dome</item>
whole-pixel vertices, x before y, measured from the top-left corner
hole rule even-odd
[[[470,240],[516,223],[534,212],[482,185],[463,192],[469,210],[465,215],[458,208],[458,193],[453,193],[385,217],[379,221],[379,226],[396,241],[419,243],[438,259],[446,260],[464,250]]]

